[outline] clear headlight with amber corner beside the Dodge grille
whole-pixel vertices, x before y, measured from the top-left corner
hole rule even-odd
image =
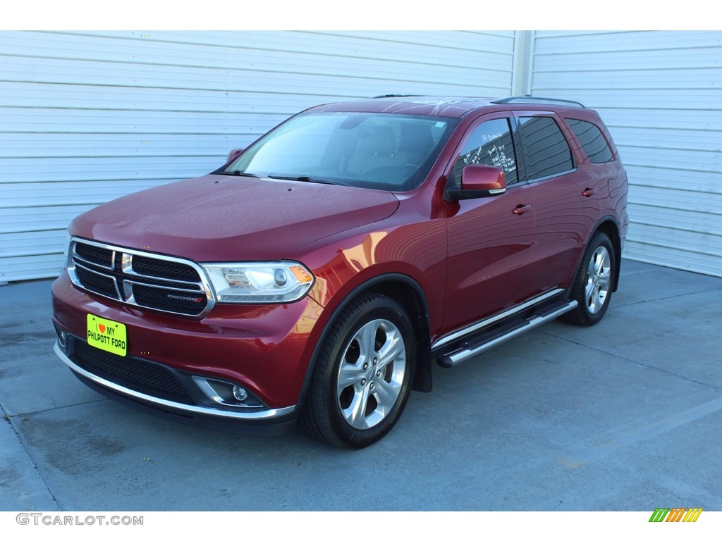
[[[294,302],[313,286],[313,274],[295,261],[202,263],[217,302]]]

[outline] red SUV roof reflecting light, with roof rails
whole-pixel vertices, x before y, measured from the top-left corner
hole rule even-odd
[[[399,96],[389,95],[365,100],[329,103],[310,109],[314,113],[401,113],[406,115],[432,115],[461,118],[471,111],[489,110],[563,110],[583,109],[579,102],[555,98],[510,96]]]

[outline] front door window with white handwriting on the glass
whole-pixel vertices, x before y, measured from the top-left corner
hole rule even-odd
[[[498,167],[503,170],[507,184],[513,184],[518,180],[516,155],[511,141],[508,119],[487,120],[474,128],[454,164],[455,182],[458,183],[461,179],[461,170],[464,169],[464,166],[471,164]]]

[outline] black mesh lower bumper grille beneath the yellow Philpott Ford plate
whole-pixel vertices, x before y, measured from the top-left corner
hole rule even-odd
[[[79,338],[73,337],[72,343],[71,361],[91,374],[144,395],[182,404],[195,404],[173,372],[160,364],[108,353],[89,346]]]

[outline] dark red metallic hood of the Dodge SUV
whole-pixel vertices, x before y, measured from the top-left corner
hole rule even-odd
[[[380,190],[206,175],[100,205],[74,219],[70,233],[196,261],[277,260],[398,206]]]

